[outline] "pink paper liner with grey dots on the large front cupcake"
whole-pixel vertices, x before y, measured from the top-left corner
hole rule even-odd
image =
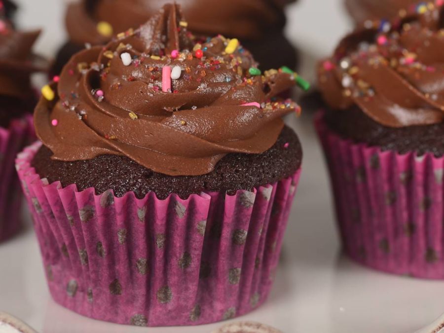
[[[235,195],[119,198],[48,185],[30,166],[39,147],[16,163],[56,302],[95,319],[174,326],[240,316],[266,299],[300,171]]]

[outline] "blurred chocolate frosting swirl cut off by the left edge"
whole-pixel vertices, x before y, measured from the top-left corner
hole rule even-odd
[[[40,31],[16,31],[9,20],[15,7],[10,1],[0,5],[0,96],[26,99],[33,94],[30,75],[47,67],[32,52]]]

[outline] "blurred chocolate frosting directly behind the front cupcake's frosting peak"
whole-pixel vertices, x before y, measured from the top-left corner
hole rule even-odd
[[[70,39],[93,45],[110,40],[97,30],[101,21],[115,33],[144,24],[170,0],[82,0],[70,4],[66,26]],[[183,8],[188,29],[196,34],[257,39],[285,25],[283,7],[295,0],[176,0]]]

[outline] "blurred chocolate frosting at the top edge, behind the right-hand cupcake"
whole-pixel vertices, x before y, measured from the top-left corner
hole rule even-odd
[[[406,15],[407,10],[411,10],[412,5],[418,2],[418,0],[345,0],[345,7],[354,21],[360,24],[367,20],[388,19],[398,14]]]

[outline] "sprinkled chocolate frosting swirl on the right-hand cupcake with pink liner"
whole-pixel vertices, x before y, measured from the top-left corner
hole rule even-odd
[[[432,2],[345,37],[319,64],[319,87],[333,109],[357,105],[388,127],[444,119],[443,6]]]

